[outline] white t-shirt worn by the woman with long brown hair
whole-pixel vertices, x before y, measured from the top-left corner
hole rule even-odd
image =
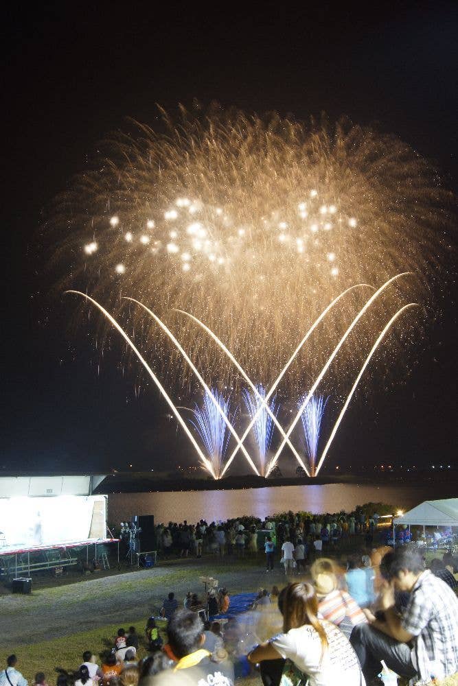
[[[365,686],[356,652],[341,630],[321,620],[328,637],[328,648],[322,656],[318,632],[310,624],[290,629],[271,639],[271,644],[284,659],[309,676],[310,686]]]

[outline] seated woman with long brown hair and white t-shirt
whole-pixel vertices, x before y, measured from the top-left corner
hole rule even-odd
[[[334,624],[317,617],[318,599],[311,584],[289,584],[278,606],[284,632],[254,648],[248,656],[251,663],[289,659],[308,676],[310,686],[365,686],[350,642]]]

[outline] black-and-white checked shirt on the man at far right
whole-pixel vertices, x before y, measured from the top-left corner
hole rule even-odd
[[[412,661],[424,683],[458,671],[458,599],[428,569],[411,591],[402,628],[415,637]]]

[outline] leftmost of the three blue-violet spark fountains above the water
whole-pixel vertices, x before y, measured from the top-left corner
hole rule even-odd
[[[216,398],[216,403],[214,403],[213,397]],[[219,407],[222,407],[222,412],[218,412]],[[203,440],[215,478],[220,479],[222,477],[222,462],[229,442],[227,422],[225,422],[223,414],[229,415],[230,400],[229,398],[225,399],[218,390],[213,390],[211,396],[205,392],[203,407],[196,405],[192,412],[196,421],[190,420],[190,423]]]

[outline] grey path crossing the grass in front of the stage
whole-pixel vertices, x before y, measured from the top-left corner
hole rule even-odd
[[[139,569],[101,578],[42,588],[32,595],[0,597],[0,632],[8,645],[38,643],[64,637],[104,624],[125,625],[157,613],[161,601],[174,591],[179,601],[186,591],[202,595],[199,576],[213,576],[229,593],[269,590],[281,586],[285,577],[277,563],[273,572],[264,571],[263,556],[259,565],[205,557],[162,563],[153,569]]]

